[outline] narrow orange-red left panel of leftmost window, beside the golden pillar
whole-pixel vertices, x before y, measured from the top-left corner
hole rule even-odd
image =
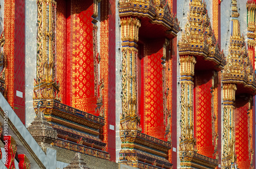
[[[57,52],[57,80],[59,81],[60,87],[60,97],[61,102],[63,104],[67,104],[66,102],[66,79],[67,79],[67,5],[65,0],[56,0],[57,2],[57,9],[56,9],[56,15],[57,15],[57,26],[56,26],[56,52]],[[69,104],[70,105],[70,104]]]

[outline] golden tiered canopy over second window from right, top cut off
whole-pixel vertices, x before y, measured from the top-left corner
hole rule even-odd
[[[185,30],[179,41],[180,55],[194,55],[204,60],[213,61],[218,70],[226,64],[223,51],[211,29],[205,2],[189,2],[189,13]]]

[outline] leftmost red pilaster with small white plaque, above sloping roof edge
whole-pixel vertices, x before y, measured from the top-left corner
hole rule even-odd
[[[25,124],[25,1],[5,1],[4,15],[7,101]]]

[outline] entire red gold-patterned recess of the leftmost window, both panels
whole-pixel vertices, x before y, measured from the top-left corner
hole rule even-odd
[[[57,78],[62,102],[94,114],[93,1],[57,3]]]

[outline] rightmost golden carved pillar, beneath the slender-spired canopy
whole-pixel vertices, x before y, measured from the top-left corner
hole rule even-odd
[[[230,167],[232,147],[234,140],[234,100],[237,86],[235,84],[223,85],[223,150],[222,168]]]

